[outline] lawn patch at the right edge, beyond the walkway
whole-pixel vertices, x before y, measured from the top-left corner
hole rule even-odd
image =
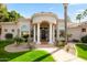
[[[76,44],[78,56],[87,59],[87,45],[85,44]]]

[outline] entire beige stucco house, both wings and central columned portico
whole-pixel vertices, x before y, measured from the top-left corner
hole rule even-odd
[[[72,34],[68,39],[69,41],[74,39],[79,40],[87,34],[86,23],[76,24],[67,22],[67,26],[68,33]],[[43,41],[48,42],[48,44],[54,44],[56,40],[64,39],[64,36],[62,36],[64,30],[63,19],[59,19],[52,12],[40,12],[34,13],[30,19],[21,18],[15,22],[1,22],[0,39],[4,40],[8,33],[11,33],[12,37],[29,34],[36,44],[41,44]]]

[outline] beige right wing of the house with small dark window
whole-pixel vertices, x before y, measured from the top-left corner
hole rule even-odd
[[[87,22],[69,24],[68,33],[72,34],[69,40],[80,40],[80,37],[87,35]]]

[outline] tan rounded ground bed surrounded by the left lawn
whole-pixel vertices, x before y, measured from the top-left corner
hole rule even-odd
[[[15,52],[23,52],[23,51],[29,51],[30,48],[28,47],[26,43],[22,43],[19,46],[17,44],[10,44],[4,46],[4,51],[15,53]]]

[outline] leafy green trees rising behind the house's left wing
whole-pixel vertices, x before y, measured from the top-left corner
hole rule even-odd
[[[20,13],[14,10],[9,12],[7,6],[0,3],[0,22],[17,21],[19,18],[21,18]]]

